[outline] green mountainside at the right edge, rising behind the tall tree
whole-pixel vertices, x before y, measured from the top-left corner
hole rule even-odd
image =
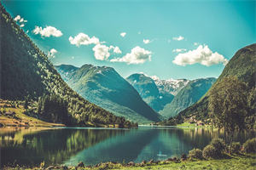
[[[253,43],[252,45],[238,50],[225,66],[224,71],[218,77],[216,83],[208,90],[207,94],[194,105],[181,111],[178,114],[177,119],[183,120],[185,116],[195,116],[195,119],[197,120],[206,120],[208,118],[208,97],[211,95],[212,89],[216,88],[215,86],[217,86],[217,82],[223,80],[224,77],[230,76],[237,77],[242,82],[247,82],[248,93],[252,96],[252,99],[250,99],[252,109],[251,114],[254,114],[255,116],[256,43]]]

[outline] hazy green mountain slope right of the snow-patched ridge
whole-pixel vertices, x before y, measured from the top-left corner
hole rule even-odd
[[[177,93],[172,102],[160,111],[160,115],[166,118],[176,116],[180,111],[201,99],[215,81],[216,78],[201,78],[190,81]]]

